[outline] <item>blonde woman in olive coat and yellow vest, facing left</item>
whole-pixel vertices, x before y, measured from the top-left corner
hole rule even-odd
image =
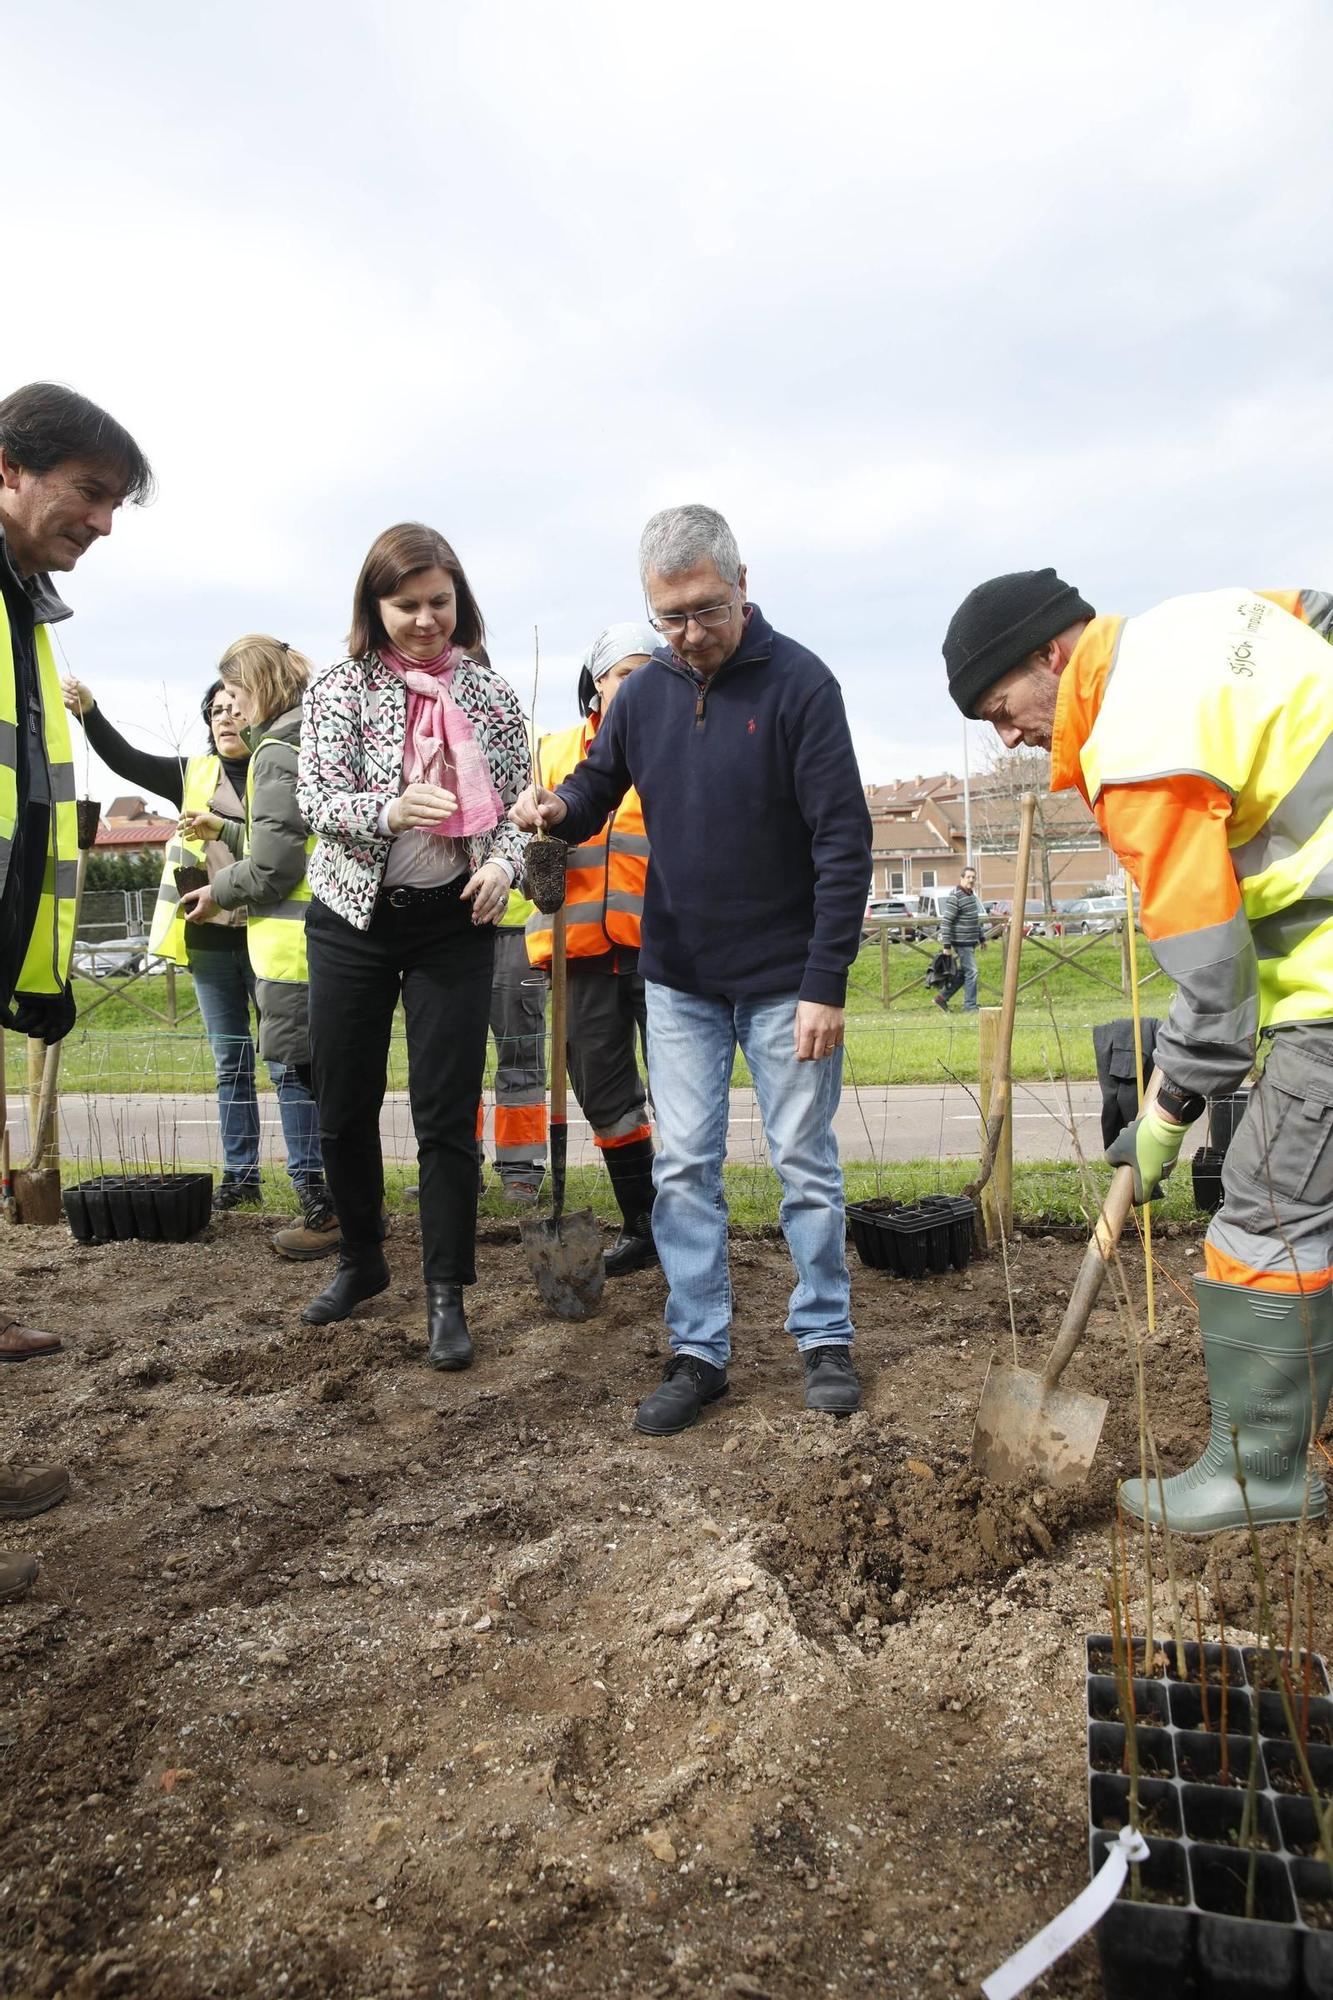
[[[218,916],[246,912],[246,956],[260,1018],[260,1056],[274,1078],[282,1118],[296,1144],[288,1166],[300,1222],[278,1230],[280,1256],[308,1260],[338,1248],[338,1222],[324,1184],[318,1114],[310,1094],[306,1010],[306,824],[296,808],[296,746],[300,698],[310,662],[282,640],[248,634],[218,662],[232,718],[250,752],[244,826],[212,810],[182,814],[182,832],[196,842],[224,842],[228,860],[204,888],[180,898],[186,936],[208,932]],[[246,1022],[248,1026],[248,1022]],[[250,1070],[250,1082],[254,1070]]]

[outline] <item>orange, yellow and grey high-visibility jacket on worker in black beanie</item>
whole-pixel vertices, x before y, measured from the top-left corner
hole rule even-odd
[[[1061,676],[1051,790],[1077,786],[1143,892],[1177,996],[1155,1060],[1235,1090],[1261,1028],[1333,1014],[1333,598],[1219,590],[1095,618]]]

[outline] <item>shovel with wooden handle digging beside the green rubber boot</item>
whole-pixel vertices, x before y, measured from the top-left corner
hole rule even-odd
[[[1149,1082],[1145,1110],[1157,1102],[1159,1082],[1159,1076]],[[1133,1200],[1135,1170],[1117,1166],[1041,1374],[991,1362],[973,1430],[973,1464],[997,1486],[1023,1486],[1033,1478],[1047,1486],[1081,1486],[1089,1474],[1109,1404],[1105,1396],[1059,1384],[1083,1342]]]

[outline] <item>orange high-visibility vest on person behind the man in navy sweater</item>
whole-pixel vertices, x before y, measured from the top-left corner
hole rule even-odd
[[[582,764],[596,736],[598,716],[572,730],[542,736],[538,764],[542,786],[560,784]],[[638,792],[630,786],[600,834],[570,848],[564,878],[564,948],[570,958],[600,958],[616,946],[638,950],[642,886],[648,878],[648,836]],[[550,918],[534,910],[526,924],[528,962],[550,964]]]

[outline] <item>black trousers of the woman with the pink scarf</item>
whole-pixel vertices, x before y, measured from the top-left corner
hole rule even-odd
[[[426,1284],[476,1282],[476,1102],[494,926],[472,922],[458,898],[464,880],[438,902],[400,910],[380,896],[368,930],[318,898],[306,916],[310,1068],[342,1246],[354,1258],[380,1242],[380,1106],[402,994]]]

